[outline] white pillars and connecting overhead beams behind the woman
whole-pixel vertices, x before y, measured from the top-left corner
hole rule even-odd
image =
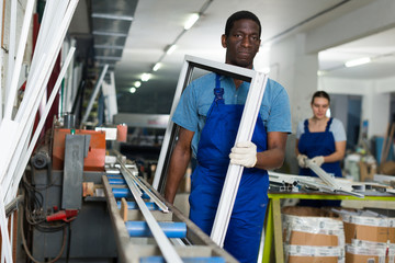
[[[312,115],[309,100],[317,90],[331,94],[362,95],[362,119],[369,137],[382,136],[390,121],[390,92],[394,78],[381,80],[317,78],[318,53],[395,26],[395,1],[380,0],[304,33],[289,35],[271,47],[271,70],[290,95],[293,132]],[[380,14],[380,15],[377,15]]]

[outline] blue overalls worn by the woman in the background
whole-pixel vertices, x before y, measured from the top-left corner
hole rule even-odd
[[[312,159],[317,156],[329,156],[336,151],[335,137],[331,132],[329,132],[332,118],[329,118],[325,132],[321,133],[311,133],[308,129],[308,119],[304,122],[304,134],[302,134],[301,139],[297,145],[297,149],[302,155],[307,156],[308,159]],[[336,178],[341,178],[341,168],[340,162],[325,162],[321,165],[321,169],[327,173],[335,174]],[[318,176],[309,168],[301,168],[301,175]],[[304,206],[338,206],[340,202],[338,201],[301,201],[300,205]]]

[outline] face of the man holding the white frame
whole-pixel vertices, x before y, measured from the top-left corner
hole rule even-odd
[[[226,64],[252,68],[253,57],[260,45],[259,25],[252,20],[235,21],[229,35],[222,36],[226,49]]]

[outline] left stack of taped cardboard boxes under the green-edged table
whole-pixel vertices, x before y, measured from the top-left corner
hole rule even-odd
[[[314,207],[283,208],[283,241],[289,263],[345,262],[343,224],[332,216]]]

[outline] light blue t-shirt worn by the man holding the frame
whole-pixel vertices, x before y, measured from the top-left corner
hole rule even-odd
[[[242,82],[236,90],[232,78],[221,77],[225,104],[245,104],[249,87],[249,82]],[[198,152],[198,144],[208,108],[214,100],[214,88],[215,73],[207,73],[192,81],[182,93],[172,116],[176,124],[195,132],[192,139],[194,156]],[[268,80],[260,107],[260,116],[268,133],[291,133],[290,100],[285,89],[274,80]]]

